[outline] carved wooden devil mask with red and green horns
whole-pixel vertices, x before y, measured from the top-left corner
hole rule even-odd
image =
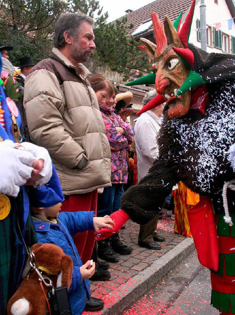
[[[200,75],[192,71],[194,55],[187,48],[194,8],[195,0],[192,2],[181,29],[183,12],[174,24],[166,16],[163,23],[164,27],[158,14],[151,14],[156,45],[141,38],[143,46],[140,48],[144,49],[153,60],[153,73],[126,85],[155,83],[158,95],[137,114],[146,112],[163,102],[166,102],[169,107],[168,116],[170,118],[184,116],[190,110],[191,88],[204,83]]]

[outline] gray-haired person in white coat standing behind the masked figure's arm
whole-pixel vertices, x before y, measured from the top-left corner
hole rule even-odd
[[[156,96],[156,90],[147,92],[143,99],[143,106]],[[137,154],[138,180],[141,180],[158,158],[158,133],[162,124],[164,104],[143,113],[135,124],[135,143]],[[165,238],[159,236],[157,228],[158,215],[146,225],[140,225],[138,244],[149,249],[161,249],[157,242],[164,242]]]

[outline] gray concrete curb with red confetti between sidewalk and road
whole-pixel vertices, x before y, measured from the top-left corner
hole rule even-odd
[[[177,266],[185,257],[195,249],[192,238],[186,238],[168,253],[154,261],[151,266],[139,272],[131,280],[119,287],[118,291],[110,292],[108,300],[114,303],[105,307],[99,314],[121,314],[128,306],[131,306],[140,296],[157,284],[172,268]]]

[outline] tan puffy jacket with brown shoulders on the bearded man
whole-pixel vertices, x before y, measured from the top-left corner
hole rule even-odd
[[[24,86],[30,137],[49,151],[64,195],[111,186],[109,142],[88,73],[53,48]]]

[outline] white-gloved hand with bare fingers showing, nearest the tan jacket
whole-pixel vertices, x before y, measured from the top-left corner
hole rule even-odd
[[[39,160],[37,166],[33,165],[36,169],[34,169],[33,174],[36,176],[32,176],[33,181],[30,181],[27,184],[32,184],[34,188],[38,188],[48,183],[52,175],[51,157],[48,151],[41,146],[36,146],[35,144],[29,142],[23,142],[20,145],[25,151],[31,152],[34,157]]]

